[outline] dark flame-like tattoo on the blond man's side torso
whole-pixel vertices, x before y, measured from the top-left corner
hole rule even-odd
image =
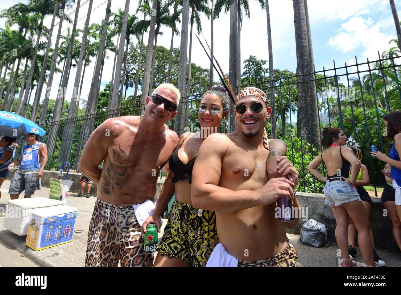
[[[120,143],[121,145],[121,143]],[[128,164],[129,159],[127,154],[121,149],[120,145],[118,146],[120,152],[123,155],[123,158],[120,159],[121,163],[119,165]],[[118,166],[117,161],[119,159],[119,153],[115,150],[113,151],[113,160],[111,160],[109,154],[107,154],[107,158],[109,159],[109,164],[107,164],[103,168],[103,187],[102,191],[105,194],[111,194],[111,191],[114,192],[114,186],[117,186],[119,189],[123,188],[123,183],[128,180],[128,170],[126,167]],[[111,191],[110,191],[111,190]]]

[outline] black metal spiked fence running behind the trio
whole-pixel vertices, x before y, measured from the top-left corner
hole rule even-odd
[[[387,153],[389,140],[383,134],[384,123],[381,113],[401,110],[400,57],[381,57],[375,61],[358,63],[355,57],[353,65],[337,66],[313,73],[295,73],[275,70],[275,79],[270,86],[268,77],[243,79],[240,89],[254,86],[275,97],[276,137],[288,144],[288,158],[300,171],[300,190],[320,192],[324,186],[306,169],[320,145],[323,127],[340,127],[348,137],[362,150],[362,163],[367,165],[371,184],[384,183],[380,173],[384,163],[369,156],[370,145],[377,145]],[[248,82],[249,81],[249,82]],[[207,89],[205,89],[207,91]],[[203,93],[191,93],[180,100],[186,130],[196,131],[198,108]],[[62,162],[70,162],[71,169],[77,170],[79,158],[91,131],[109,117],[139,115],[144,105],[127,102],[118,109],[97,112],[80,117],[46,122],[41,125],[47,131],[43,139],[48,145],[49,161],[46,169],[59,170]],[[378,110],[378,111],[377,111]],[[178,116],[178,114],[177,114]],[[227,116],[229,118],[230,116]],[[173,129],[174,119],[167,125]],[[230,119],[223,120],[220,132],[227,133],[231,128]],[[266,124],[267,133],[271,133],[271,121]],[[186,131],[185,130],[185,131]],[[180,128],[178,133],[184,131]],[[271,137],[271,136],[269,136]],[[21,150],[16,157],[20,158]],[[324,173],[324,168],[322,168]]]

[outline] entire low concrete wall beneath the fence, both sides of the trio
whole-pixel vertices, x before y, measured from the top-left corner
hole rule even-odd
[[[12,180],[14,173],[17,168],[12,168],[12,173],[8,177],[9,180]],[[62,179],[65,179],[65,174],[63,173]],[[58,178],[59,172],[57,171],[44,171],[42,176],[42,186],[49,187],[49,179],[50,178]],[[68,179],[73,181],[73,185],[70,188],[70,192],[79,194],[81,190],[81,186],[79,183],[80,173],[69,173]],[[156,191],[156,199],[159,197],[164,181],[158,180],[157,182],[157,191]],[[86,191],[85,191],[86,192]],[[96,196],[97,193],[97,184],[93,184],[91,193],[93,196]],[[312,218],[326,225],[328,229],[328,239],[331,241],[335,241],[335,229],[336,229],[336,220],[334,218],[333,212],[330,206],[326,206],[324,204],[324,195],[323,194],[311,194],[304,192],[297,192],[297,198],[300,202],[301,206],[304,208],[308,208],[308,219]],[[391,223],[390,217],[383,216],[383,204],[381,199],[372,198],[373,208],[371,214],[371,227],[373,230],[374,238],[375,238],[375,247],[379,250],[388,250],[392,252],[399,252],[397,244],[395,244],[393,238],[393,224]],[[306,212],[306,211],[304,211]],[[303,220],[299,220],[297,226],[294,228],[287,228],[287,232],[291,234],[300,234],[302,224],[306,222]],[[357,234],[356,234],[357,237]],[[356,240],[357,244],[357,240]]]

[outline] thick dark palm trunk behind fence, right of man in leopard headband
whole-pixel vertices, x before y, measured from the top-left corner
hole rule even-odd
[[[302,138],[320,150],[320,132],[318,126],[318,106],[316,103],[316,85],[313,79],[313,60],[310,51],[308,25],[304,0],[293,0],[295,43],[297,54],[299,119]],[[310,74],[312,73],[312,74]],[[310,121],[310,124],[309,124]]]

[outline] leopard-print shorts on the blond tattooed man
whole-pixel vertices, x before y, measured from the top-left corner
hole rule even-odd
[[[153,255],[144,253],[141,226],[134,208],[99,199],[89,224],[85,267],[152,267]]]

